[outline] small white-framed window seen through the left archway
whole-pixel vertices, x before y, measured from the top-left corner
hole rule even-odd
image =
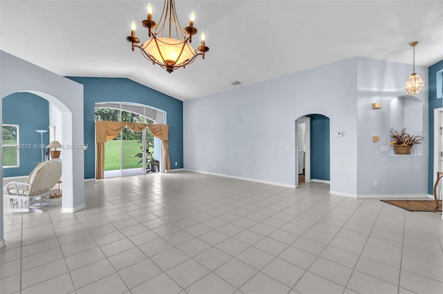
[[[19,125],[1,125],[3,168],[19,167]]]

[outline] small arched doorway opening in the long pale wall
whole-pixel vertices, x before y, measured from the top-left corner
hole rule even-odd
[[[320,114],[296,119],[296,186],[330,182],[329,117]]]

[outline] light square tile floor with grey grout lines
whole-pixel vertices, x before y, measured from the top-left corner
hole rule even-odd
[[[85,190],[4,216],[0,293],[443,293],[441,213],[186,171]]]

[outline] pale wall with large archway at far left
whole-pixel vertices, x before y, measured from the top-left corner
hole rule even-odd
[[[62,113],[62,138],[60,141],[63,144],[83,144],[83,86],[81,84],[1,50],[0,63],[1,98],[14,92],[31,92],[43,97]],[[62,211],[75,211],[84,207],[84,151],[73,148],[62,152]],[[3,177],[3,171],[0,173]],[[0,188],[3,190],[1,182]],[[0,221],[1,243],[3,239],[3,202],[0,202]]]

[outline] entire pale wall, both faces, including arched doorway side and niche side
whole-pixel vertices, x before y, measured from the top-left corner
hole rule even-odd
[[[347,59],[185,101],[185,168],[295,186],[293,121],[318,113],[329,117],[331,123],[332,193],[424,197],[428,89],[425,86],[417,97],[404,97],[404,82],[411,69],[408,64]],[[417,67],[416,71],[428,80],[426,68]],[[398,108],[390,110],[390,101],[397,97],[392,104],[397,103]],[[372,103],[383,107],[372,110]],[[410,133],[424,131],[425,142],[414,151],[420,155],[380,152],[381,146],[389,146],[391,121],[394,127],[404,124]],[[343,137],[336,136],[338,131]],[[372,142],[372,136],[379,136],[379,142]],[[379,186],[374,186],[374,180]]]

